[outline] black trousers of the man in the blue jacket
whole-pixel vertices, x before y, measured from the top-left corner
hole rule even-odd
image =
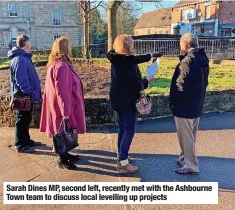
[[[29,144],[29,124],[32,121],[32,109],[30,111],[16,111],[15,122],[15,146],[22,148]]]

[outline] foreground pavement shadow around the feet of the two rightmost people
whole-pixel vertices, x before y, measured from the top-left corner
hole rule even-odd
[[[94,155],[94,156],[93,156]],[[80,168],[86,172],[118,176],[116,167],[107,166],[106,163],[116,164],[115,153],[107,151],[85,150],[82,151],[82,160],[80,165],[92,165],[99,169]],[[196,175],[180,175],[174,170],[178,167],[176,164],[176,155],[166,154],[130,154],[133,158],[133,164],[139,167],[139,172],[130,175],[139,177],[143,182],[218,182],[219,188],[224,190],[235,190],[235,159],[219,157],[198,157],[200,164],[200,173]],[[113,157],[113,159],[110,159]],[[105,170],[109,170],[104,171]]]

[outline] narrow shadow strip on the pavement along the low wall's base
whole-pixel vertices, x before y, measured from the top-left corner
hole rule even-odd
[[[235,112],[208,113],[201,117],[199,130],[235,129]],[[117,126],[96,126],[88,129],[89,133],[116,133]],[[137,123],[136,133],[174,133],[173,117],[149,119]]]

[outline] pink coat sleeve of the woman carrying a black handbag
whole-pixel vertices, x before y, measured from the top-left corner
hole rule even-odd
[[[71,115],[72,77],[66,65],[60,65],[55,70],[55,90],[61,115]]]

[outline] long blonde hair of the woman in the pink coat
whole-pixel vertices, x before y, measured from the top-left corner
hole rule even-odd
[[[57,61],[64,61],[68,64],[72,64],[72,47],[68,37],[61,36],[57,38],[52,46],[51,53],[49,55],[49,60],[47,67],[51,64],[56,63]]]

